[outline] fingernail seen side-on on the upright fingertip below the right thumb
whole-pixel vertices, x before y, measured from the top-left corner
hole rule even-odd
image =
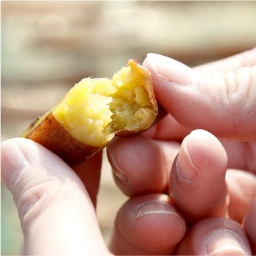
[[[182,147],[180,147],[180,153],[178,154],[178,170],[182,178],[185,180],[192,180],[198,174],[199,168],[194,165],[190,154],[188,153],[186,147],[187,139],[188,137],[182,141]]]

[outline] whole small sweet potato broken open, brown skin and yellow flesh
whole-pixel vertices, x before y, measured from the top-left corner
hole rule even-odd
[[[74,167],[103,149],[115,135],[149,129],[158,107],[151,73],[137,60],[107,78],[85,78],[21,135]]]

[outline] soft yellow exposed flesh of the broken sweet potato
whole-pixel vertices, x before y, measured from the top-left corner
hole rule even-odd
[[[153,118],[153,107],[142,74],[128,66],[112,80],[83,79],[52,114],[78,141],[100,147],[115,131],[139,130],[145,119]]]

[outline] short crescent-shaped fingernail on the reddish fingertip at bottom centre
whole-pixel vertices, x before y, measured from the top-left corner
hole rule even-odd
[[[148,214],[171,214],[180,219],[180,216],[178,216],[176,210],[170,204],[159,201],[151,201],[143,204],[137,211],[137,218]]]

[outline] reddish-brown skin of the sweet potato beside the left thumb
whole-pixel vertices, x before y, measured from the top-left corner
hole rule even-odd
[[[52,112],[26,138],[46,147],[72,168],[99,151],[99,147],[86,145],[72,137]]]

